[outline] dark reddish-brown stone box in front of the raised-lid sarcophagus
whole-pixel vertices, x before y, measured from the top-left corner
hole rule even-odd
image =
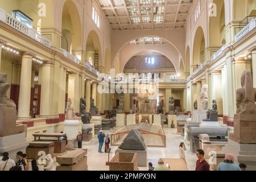
[[[40,151],[46,152],[46,155],[54,153],[54,142],[30,142],[26,149],[28,159],[39,159],[41,155],[38,155]]]

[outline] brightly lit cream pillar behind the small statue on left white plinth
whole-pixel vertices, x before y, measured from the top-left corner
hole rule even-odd
[[[79,90],[79,75],[77,73],[70,73],[68,75],[68,98],[71,98],[72,106],[76,110],[76,113],[79,112]]]

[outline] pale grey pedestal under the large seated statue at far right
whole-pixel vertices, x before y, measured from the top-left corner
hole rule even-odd
[[[237,164],[244,163],[247,171],[256,171],[256,144],[241,144],[229,139],[223,147],[225,154],[233,154]]]

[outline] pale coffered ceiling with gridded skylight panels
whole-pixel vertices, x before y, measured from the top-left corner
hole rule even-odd
[[[97,0],[113,30],[184,27],[193,0]]]

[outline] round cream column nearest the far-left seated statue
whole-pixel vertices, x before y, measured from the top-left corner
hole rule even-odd
[[[20,74],[18,119],[30,119],[32,55],[24,53]],[[29,80],[29,81],[28,81]]]

